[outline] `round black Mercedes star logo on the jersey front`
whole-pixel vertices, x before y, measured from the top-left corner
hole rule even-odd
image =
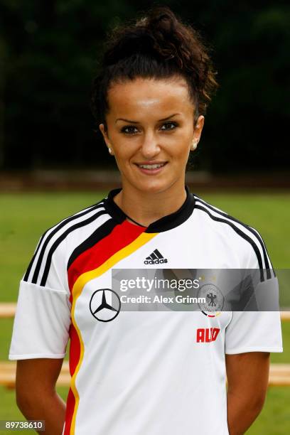
[[[109,301],[109,304],[108,302]],[[111,289],[96,290],[90,299],[90,312],[100,322],[114,320],[121,310],[121,301],[116,291]]]

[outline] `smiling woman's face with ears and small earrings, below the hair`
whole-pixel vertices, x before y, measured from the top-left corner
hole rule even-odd
[[[186,80],[139,77],[116,83],[108,102],[107,132],[104,124],[100,130],[117,161],[123,188],[161,192],[174,183],[184,186],[190,147],[199,141],[204,122],[200,116],[193,125]]]

